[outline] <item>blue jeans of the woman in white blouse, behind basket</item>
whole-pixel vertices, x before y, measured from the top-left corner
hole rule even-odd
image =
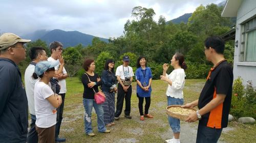
[[[167,96],[167,101],[168,101],[168,106],[169,105],[183,105],[183,98],[179,99],[179,98],[174,98],[174,97],[170,97]],[[180,132],[180,120],[176,119],[176,118],[172,118],[168,116],[168,122],[170,127],[172,128],[174,133],[178,133]]]

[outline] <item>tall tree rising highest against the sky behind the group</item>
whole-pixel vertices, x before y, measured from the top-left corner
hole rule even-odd
[[[154,21],[155,12],[153,9],[135,7],[132,17],[136,20],[127,20],[124,25],[124,36],[126,41],[126,51],[136,54],[151,54],[151,45],[155,42],[158,26]],[[163,20],[163,19],[162,19]]]

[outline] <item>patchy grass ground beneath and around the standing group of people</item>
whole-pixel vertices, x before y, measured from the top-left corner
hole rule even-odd
[[[205,80],[187,79],[184,89],[185,103],[198,99]],[[66,137],[66,142],[164,142],[165,139],[173,137],[168,126],[165,107],[167,99],[165,91],[167,84],[160,80],[153,80],[150,113],[153,119],[139,120],[138,99],[136,97],[136,83],[133,82],[133,94],[131,99],[132,120],[125,119],[122,112],[116,125],[108,127],[110,134],[103,134],[97,131],[96,113],[92,113],[92,125],[95,137],[89,137],[84,133],[82,105],[82,83],[77,77],[67,79],[67,94],[65,109],[61,125],[60,137]],[[124,105],[125,107],[125,105]],[[196,123],[181,122],[181,142],[195,142]],[[256,126],[243,125],[238,122],[231,122],[229,130],[222,133],[221,142],[253,142],[255,139]],[[188,141],[188,140],[193,141]]]

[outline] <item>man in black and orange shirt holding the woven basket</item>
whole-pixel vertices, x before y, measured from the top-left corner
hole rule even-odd
[[[217,142],[222,129],[228,124],[233,72],[224,59],[224,48],[225,42],[220,37],[208,37],[205,40],[205,56],[214,67],[209,71],[199,99],[183,106],[198,105],[199,110],[186,119],[187,122],[199,120],[197,143]]]

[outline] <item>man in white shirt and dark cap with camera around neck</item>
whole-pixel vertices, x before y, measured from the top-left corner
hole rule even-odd
[[[130,116],[131,112],[131,96],[132,96],[132,81],[133,81],[133,68],[128,66],[130,62],[129,56],[123,56],[123,65],[117,67],[116,76],[118,80],[117,88],[117,103],[115,120],[119,120],[123,108],[123,100],[125,98],[125,110],[124,117],[127,119],[132,119]]]

